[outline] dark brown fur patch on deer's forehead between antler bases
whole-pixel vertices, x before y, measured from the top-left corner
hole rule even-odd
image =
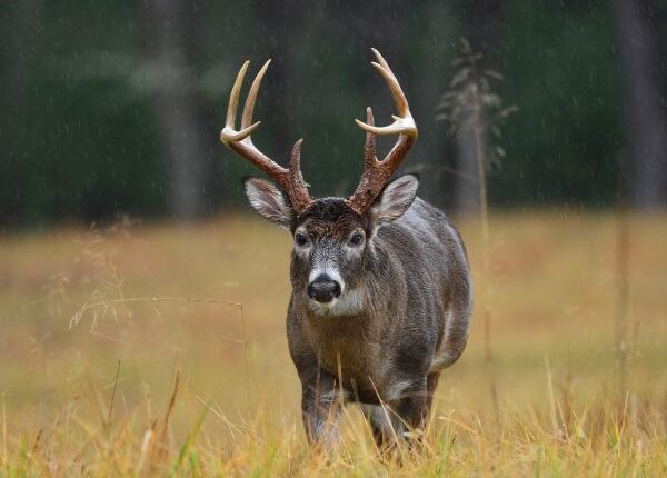
[[[297,218],[297,225],[306,226],[309,235],[317,238],[347,238],[357,228],[367,230],[368,218],[355,212],[341,198],[316,200]]]

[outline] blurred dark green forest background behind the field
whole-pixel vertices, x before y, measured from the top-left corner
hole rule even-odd
[[[434,203],[474,210],[469,141],[436,120],[460,38],[519,108],[497,141],[491,205],[664,208],[666,31],[663,0],[4,1],[0,228],[238,207],[256,171],[218,136],[246,59],[253,72],[273,59],[256,142],[285,161],[303,137],[312,193],[347,195],[362,165],[354,118],[394,109],[369,47],[420,129],[404,169]]]

